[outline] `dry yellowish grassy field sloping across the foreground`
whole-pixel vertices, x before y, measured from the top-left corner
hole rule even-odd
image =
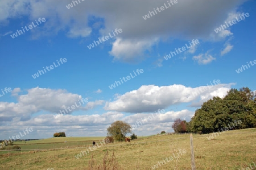
[[[207,139],[209,135],[211,134],[193,135],[196,169],[242,169],[250,165],[254,167],[256,128],[227,131],[211,140]],[[0,169],[88,169],[92,155],[94,164],[101,164],[107,151],[110,155],[114,152],[122,169],[152,169],[154,165],[155,169],[191,169],[189,134],[148,136],[130,143],[103,144],[99,142],[102,139],[103,137],[51,138],[26,144],[16,143],[22,150],[50,150],[0,152]],[[87,144],[92,144],[92,140],[98,143],[95,150],[86,147]],[[82,155],[81,151],[86,150],[89,154]],[[77,154],[81,154],[81,157]]]

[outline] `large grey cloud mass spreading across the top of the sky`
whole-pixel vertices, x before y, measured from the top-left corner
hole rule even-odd
[[[182,35],[186,40],[212,40],[216,23],[223,23],[224,18],[232,18],[233,14],[238,14],[239,12],[234,10],[243,2],[245,0],[178,1],[174,6],[144,20],[142,16],[156,7],[163,6],[167,3],[166,0],[86,1],[69,10],[66,7],[72,3],[69,0],[10,0],[0,2],[0,22],[7,23],[9,19],[24,15],[31,21],[43,17],[46,18],[46,22],[42,27],[31,30],[33,39],[42,35],[57,35],[59,31],[64,31],[70,38],[84,38],[92,34],[92,28],[101,19],[104,20],[104,25],[97,31],[101,32],[102,36],[108,35],[115,28],[122,29],[122,33],[113,39],[113,47],[109,52],[114,60],[138,63],[147,56],[144,53],[163,39],[179,39]],[[139,10],[134,10],[134,6]],[[120,10],[121,7],[125,7],[125,10]],[[181,20],[182,22],[179,22]],[[92,24],[88,25],[89,22]],[[221,31],[221,34],[214,36],[230,34],[232,33]],[[112,40],[107,43],[112,43]]]

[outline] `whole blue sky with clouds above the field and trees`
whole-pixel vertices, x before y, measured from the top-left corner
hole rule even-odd
[[[115,121],[138,136],[174,132],[213,96],[255,91],[255,9],[252,0],[0,1],[0,139],[106,136]]]

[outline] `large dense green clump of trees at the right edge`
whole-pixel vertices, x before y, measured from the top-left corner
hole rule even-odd
[[[238,120],[242,123],[232,130],[256,127],[256,94],[249,88],[230,89],[224,98],[213,97],[204,102],[189,122],[189,130],[216,132]]]

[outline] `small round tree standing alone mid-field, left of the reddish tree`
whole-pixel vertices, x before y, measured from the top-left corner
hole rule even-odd
[[[125,135],[131,133],[131,125],[123,121],[115,121],[107,129],[108,136],[113,136],[117,141],[125,141]]]

